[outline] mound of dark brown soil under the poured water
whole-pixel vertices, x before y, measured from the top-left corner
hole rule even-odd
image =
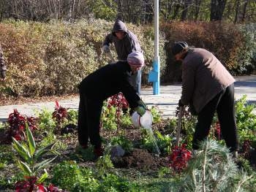
[[[113,158],[113,164],[116,168],[159,169],[167,166],[167,160],[148,153],[148,150],[135,148],[123,157]]]

